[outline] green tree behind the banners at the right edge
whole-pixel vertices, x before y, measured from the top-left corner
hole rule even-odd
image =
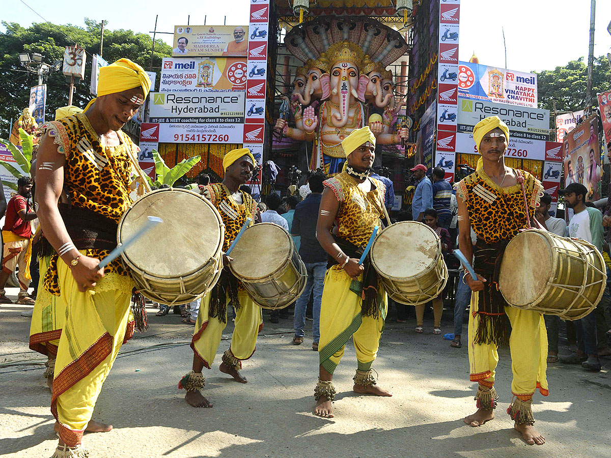
[[[611,89],[611,70],[607,56],[595,57],[592,95]],[[557,112],[579,111],[586,107],[585,93],[588,85],[588,65],[584,57],[571,60],[555,70],[544,70],[538,75],[539,107],[547,109],[554,117]],[[591,101],[591,103],[595,103]],[[554,120],[551,119],[552,128]]]

